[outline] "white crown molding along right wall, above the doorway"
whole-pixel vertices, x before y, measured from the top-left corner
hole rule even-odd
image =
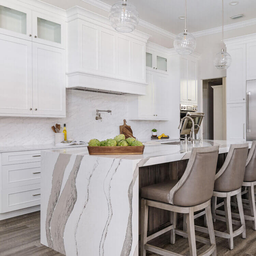
[[[242,22],[225,25],[224,31],[242,28],[242,27],[246,27],[246,26],[251,26],[251,25],[255,25],[255,24],[256,24],[256,18],[248,19],[248,20],[244,20]],[[221,31],[222,31],[222,27],[217,27],[217,28],[210,28],[210,29],[206,29],[206,30],[197,31],[192,34],[194,35],[194,37],[203,37],[204,35],[215,34],[215,33],[221,32]]]

